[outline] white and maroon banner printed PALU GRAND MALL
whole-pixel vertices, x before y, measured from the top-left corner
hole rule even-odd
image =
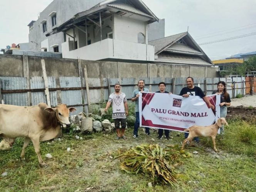
[[[199,96],[182,96],[167,93],[140,93],[140,126],[183,131],[192,125],[208,126],[220,116],[220,96],[207,96],[212,110]]]

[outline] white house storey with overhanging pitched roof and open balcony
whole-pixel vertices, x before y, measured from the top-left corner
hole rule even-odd
[[[46,36],[66,34],[62,57],[104,61],[154,61],[148,24],[158,18],[141,0],[106,0],[77,13]]]

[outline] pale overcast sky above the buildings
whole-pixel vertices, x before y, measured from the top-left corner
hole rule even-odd
[[[29,27],[52,0],[0,1],[0,48],[29,42]],[[212,60],[256,51],[256,0],[143,0],[160,19],[165,37],[187,31]],[[255,34],[255,35],[252,35]]]

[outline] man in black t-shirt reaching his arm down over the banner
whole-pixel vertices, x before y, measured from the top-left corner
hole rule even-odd
[[[201,88],[194,86],[194,79],[193,77],[187,77],[186,79],[187,87],[182,88],[180,91],[180,96],[188,98],[189,96],[200,96],[200,98],[204,99],[204,101],[212,108],[214,109],[214,105],[212,105],[205,96],[204,92],[202,91]],[[189,133],[185,133],[185,138],[189,136]],[[195,137],[194,140],[196,142],[199,142],[199,138]]]

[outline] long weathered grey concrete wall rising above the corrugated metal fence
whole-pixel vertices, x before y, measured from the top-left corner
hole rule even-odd
[[[26,59],[27,58],[27,59]],[[87,67],[89,78],[122,77],[218,77],[218,68],[148,63],[87,61],[34,56],[0,56],[0,76],[42,76],[41,59],[45,60],[47,76],[79,77]],[[27,62],[27,63],[26,63]],[[206,71],[206,76],[205,76]]]

